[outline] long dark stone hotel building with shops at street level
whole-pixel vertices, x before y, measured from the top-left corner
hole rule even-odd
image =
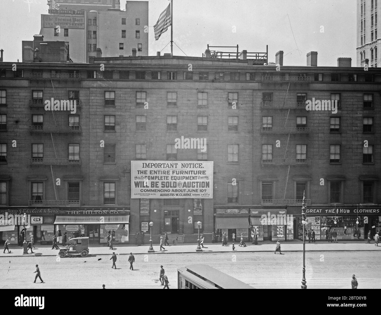
[[[0,63],[0,214],[30,215],[27,235],[38,241],[60,229],[105,243],[114,230],[118,241],[134,243],[151,221],[154,241],[167,231],[195,242],[197,222],[206,241],[213,231],[232,239],[253,229],[259,240],[290,241],[301,238],[305,193],[307,229],[317,239],[330,228],[339,239],[374,235],[381,228],[381,72],[351,67],[348,58],[320,67],[317,52],[307,54],[306,66],[283,66],[282,51],[277,65],[245,50],[225,56],[206,50],[204,57],[17,63],[16,71]],[[76,108],[49,110],[55,100]],[[179,147],[182,137],[205,147]],[[202,165],[213,195],[155,197],[144,187],[171,192],[173,181],[139,186],[145,179],[131,161],[162,163],[157,170],[165,161],[194,163],[186,170]],[[292,218],[266,220],[273,215]],[[17,242],[23,226],[0,228],[3,240]]]

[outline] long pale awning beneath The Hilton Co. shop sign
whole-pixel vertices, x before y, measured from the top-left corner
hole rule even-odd
[[[118,224],[130,223],[130,215],[72,216],[58,215],[54,224]]]

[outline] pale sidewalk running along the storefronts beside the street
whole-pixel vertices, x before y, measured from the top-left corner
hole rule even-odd
[[[306,251],[339,251],[339,252],[351,252],[351,251],[373,251],[380,250],[381,246],[376,247],[374,242],[368,244],[366,241],[363,242],[349,242],[342,241],[338,243],[326,243],[326,242],[316,242],[308,243],[306,242]],[[186,244],[186,245],[171,245],[165,246],[165,250],[160,251],[160,246],[158,244],[153,244],[155,252],[148,253],[149,244],[136,246],[134,244],[115,244],[114,250],[109,249],[106,246],[100,246],[99,244],[89,246],[90,253],[89,255],[110,255],[112,252],[119,255],[127,255],[132,252],[133,254],[174,254],[174,253],[195,253],[197,244]],[[258,242],[258,245],[253,245],[247,243],[247,247],[239,247],[239,243],[234,243],[235,250],[234,252],[274,252],[275,251],[275,242]],[[222,246],[221,243],[204,243],[204,248],[202,248],[203,253],[219,253],[219,252],[233,252],[232,243],[229,242],[227,246]],[[282,252],[303,252],[303,242],[294,240],[290,242],[281,242]],[[51,249],[51,245],[38,245],[36,249],[33,250],[34,254],[28,253],[28,255],[23,255],[23,249],[18,246],[10,246],[11,254],[5,252],[0,252],[0,257],[25,257],[25,256],[56,256],[58,255],[59,250]],[[201,253],[201,252],[200,252]],[[79,254],[78,254],[79,256]]]

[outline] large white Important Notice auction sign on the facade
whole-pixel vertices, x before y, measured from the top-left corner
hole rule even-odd
[[[131,161],[131,198],[213,198],[213,161]]]

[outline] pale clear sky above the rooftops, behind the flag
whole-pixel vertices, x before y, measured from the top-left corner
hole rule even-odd
[[[21,62],[21,41],[40,32],[47,0],[0,0],[0,48],[4,61]],[[28,3],[29,2],[29,3]],[[239,45],[239,51],[265,52],[269,61],[283,50],[283,65],[305,66],[318,52],[318,66],[352,58],[356,66],[356,0],[173,0],[173,41],[188,55],[201,57],[211,46]],[[149,55],[170,42],[170,28],[155,41],[153,26],[168,0],[149,0]],[[121,0],[125,9],[125,1]],[[235,26],[236,32],[233,32]],[[324,32],[320,32],[321,26]],[[295,37],[295,39],[294,39]],[[222,48],[221,48],[222,50]],[[163,53],[170,52],[168,45]],[[184,56],[176,45],[173,54]]]

